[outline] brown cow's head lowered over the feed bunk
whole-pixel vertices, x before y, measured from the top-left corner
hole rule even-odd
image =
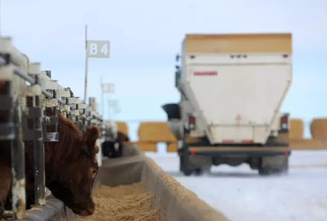
[[[99,169],[96,158],[99,147],[95,145],[99,134],[96,126],[86,128],[82,137],[73,144],[77,151],[72,154],[74,157],[61,163],[60,174],[49,187],[55,197],[78,215],[88,216],[95,211],[91,194]]]

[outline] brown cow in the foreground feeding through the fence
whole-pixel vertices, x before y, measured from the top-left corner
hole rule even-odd
[[[1,88],[1,85],[0,85]],[[0,90],[0,94],[1,94]],[[95,211],[91,190],[98,173],[95,146],[100,130],[88,127],[82,136],[75,123],[58,115],[59,142],[45,142],[45,185],[74,213],[87,216]],[[0,122],[6,114],[0,111]],[[4,201],[10,194],[11,164],[7,141],[0,141],[0,217],[4,212]],[[26,190],[34,195],[34,148],[33,142],[25,142]],[[10,195],[9,195],[10,197]]]

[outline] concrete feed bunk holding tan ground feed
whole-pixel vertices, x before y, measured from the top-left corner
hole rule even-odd
[[[138,147],[127,146],[123,155],[103,160],[94,184],[94,215],[78,217],[49,196],[46,206],[27,212],[27,220],[228,220],[146,158]]]

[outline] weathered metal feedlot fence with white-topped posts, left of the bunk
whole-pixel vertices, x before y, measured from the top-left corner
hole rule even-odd
[[[45,205],[43,142],[59,140],[57,113],[74,121],[81,132],[91,124],[102,129],[103,120],[94,105],[95,98],[86,104],[74,97],[69,87],[63,88],[51,79],[51,71],[41,71],[40,63],[30,63],[16,50],[11,38],[0,38],[0,85],[0,111],[7,116],[0,122],[0,142],[10,141],[12,216],[20,220],[26,216],[24,142],[34,144],[35,204]],[[47,126],[54,131],[47,131]]]

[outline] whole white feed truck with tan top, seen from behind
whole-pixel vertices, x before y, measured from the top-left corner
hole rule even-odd
[[[292,34],[186,34],[176,65],[179,103],[162,108],[178,141],[180,171],[247,163],[287,173]]]

